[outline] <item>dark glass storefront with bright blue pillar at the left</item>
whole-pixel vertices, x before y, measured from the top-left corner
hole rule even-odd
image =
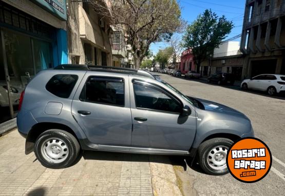
[[[37,72],[68,63],[66,20],[65,0],[0,1],[0,121]]]

